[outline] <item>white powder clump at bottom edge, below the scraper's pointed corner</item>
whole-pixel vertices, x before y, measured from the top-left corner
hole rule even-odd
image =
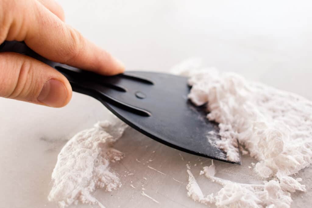
[[[290,193],[282,188],[278,180],[264,181],[263,184],[242,184],[214,177],[213,164],[203,169],[207,178],[223,186],[213,196],[217,207],[290,207]]]

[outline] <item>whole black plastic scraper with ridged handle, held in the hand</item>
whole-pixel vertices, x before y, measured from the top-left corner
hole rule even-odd
[[[4,51],[25,54],[50,65],[66,76],[74,91],[98,99],[119,119],[160,143],[235,163],[214,145],[212,140],[220,137],[212,137],[211,131],[218,134],[219,128],[206,118],[206,107],[196,107],[188,100],[186,77],[143,71],[101,76],[46,60],[17,41],[4,42],[0,52]]]

